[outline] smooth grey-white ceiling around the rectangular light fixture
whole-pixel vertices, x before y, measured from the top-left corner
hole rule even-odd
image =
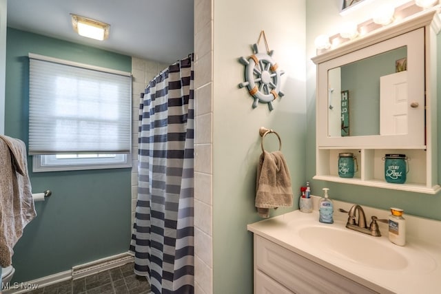
[[[8,0],[8,26],[172,63],[193,52],[193,10],[193,0]],[[70,13],[109,23],[109,39],[79,36]]]

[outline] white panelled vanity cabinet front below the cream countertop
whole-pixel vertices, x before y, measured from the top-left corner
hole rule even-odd
[[[254,234],[254,294],[377,293]]]

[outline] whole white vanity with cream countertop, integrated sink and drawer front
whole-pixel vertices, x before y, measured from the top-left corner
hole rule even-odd
[[[312,196],[315,204],[320,197]],[[353,203],[334,200],[334,209]],[[314,205],[317,207],[317,205]],[[364,207],[367,216],[387,218],[389,211]],[[347,229],[347,216],[333,224],[319,213],[300,210],[247,225],[254,235],[254,293],[439,294],[441,222],[407,215],[407,244],[383,235]]]

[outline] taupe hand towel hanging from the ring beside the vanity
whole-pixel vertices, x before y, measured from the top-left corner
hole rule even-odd
[[[292,207],[291,176],[282,152],[263,151],[259,158],[256,180],[256,207],[262,218],[269,218],[269,209]]]

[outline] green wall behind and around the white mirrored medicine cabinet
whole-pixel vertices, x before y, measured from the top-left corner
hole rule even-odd
[[[307,2],[307,165],[306,177],[311,179],[316,173],[316,65],[311,62],[311,57],[316,55],[314,39],[319,34],[333,35],[338,32],[338,27],[348,19],[340,16],[340,0],[308,0]],[[365,8],[363,8],[365,9]],[[364,10],[366,11],[366,10]],[[360,10],[360,13],[362,11]],[[369,16],[366,16],[369,19]],[[354,20],[357,21],[357,20]],[[358,18],[362,22],[362,18]],[[438,43],[440,42],[438,36]],[[441,49],[438,46],[438,81],[440,81]],[[438,83],[438,130],[441,130],[441,88]],[[438,170],[441,167],[441,134],[438,131]],[[438,173],[438,182],[441,182],[441,173]],[[441,220],[441,197],[436,195],[397,191],[391,189],[378,189],[358,185],[339,184],[322,180],[311,180],[311,191],[320,195],[323,187],[329,187],[329,195],[347,202],[355,202],[369,207],[389,209],[400,207],[405,213],[433,220]]]

